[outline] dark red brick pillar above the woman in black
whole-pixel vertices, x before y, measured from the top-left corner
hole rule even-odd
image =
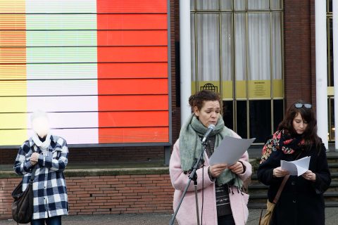
[[[314,1],[284,1],[285,107],[315,103]]]

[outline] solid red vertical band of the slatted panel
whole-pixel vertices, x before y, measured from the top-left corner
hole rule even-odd
[[[100,143],[169,140],[166,4],[97,1]]]

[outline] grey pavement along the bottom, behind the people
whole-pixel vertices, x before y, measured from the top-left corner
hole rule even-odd
[[[264,210],[263,210],[264,213]],[[247,225],[258,225],[261,210],[249,209]],[[109,214],[93,216],[66,216],[62,218],[63,225],[168,225],[172,214]],[[325,208],[325,225],[336,225],[338,221],[338,207]],[[13,220],[0,220],[1,225],[16,224]],[[175,223],[177,224],[177,223]]]

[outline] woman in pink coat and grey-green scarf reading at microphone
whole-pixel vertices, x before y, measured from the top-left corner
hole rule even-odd
[[[225,127],[220,115],[220,97],[213,91],[199,91],[189,98],[194,113],[182,126],[180,139],[174,145],[170,158],[170,179],[175,188],[173,208],[176,210],[184,188],[189,181],[195,158],[201,155],[201,139],[210,124],[215,129],[208,137],[204,164],[199,165],[197,174],[197,195],[199,221],[205,225],[246,224],[249,195],[243,192],[243,181],[251,176],[248,153],[234,165],[210,165],[209,158],[224,136],[240,138]],[[189,185],[176,219],[182,225],[196,225],[196,200],[194,181]]]

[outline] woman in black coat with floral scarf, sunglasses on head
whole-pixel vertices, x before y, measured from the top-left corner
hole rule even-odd
[[[323,193],[331,183],[326,149],[317,135],[317,120],[312,105],[298,101],[291,105],[277,131],[263,147],[258,180],[269,186],[268,200],[273,202],[284,176],[280,160],[292,161],[311,156],[308,171],[289,176],[275,205],[271,224],[324,225]]]

